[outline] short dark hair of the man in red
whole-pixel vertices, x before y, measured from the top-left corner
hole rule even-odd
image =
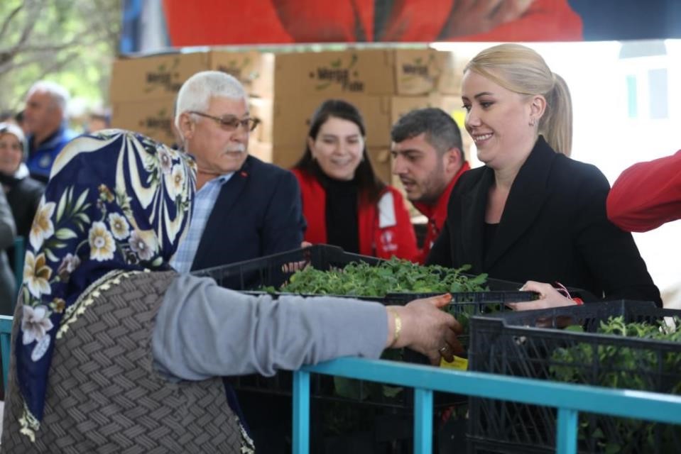
[[[400,143],[423,133],[425,140],[441,155],[452,148],[459,148],[461,159],[466,160],[459,126],[442,109],[428,107],[410,111],[393,125],[390,135],[393,142]]]

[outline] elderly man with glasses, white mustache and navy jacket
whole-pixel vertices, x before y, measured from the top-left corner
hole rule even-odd
[[[170,262],[188,272],[299,248],[305,219],[298,181],[288,170],[248,154],[249,114],[241,83],[224,72],[187,79],[175,113],[184,150],[197,165],[194,214],[187,236]],[[222,284],[236,288],[238,280]],[[258,452],[290,450],[290,398],[241,391]]]

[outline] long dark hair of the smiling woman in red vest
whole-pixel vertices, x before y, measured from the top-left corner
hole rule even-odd
[[[317,139],[317,134],[319,134],[322,125],[332,117],[352,121],[352,123],[355,123],[359,128],[362,137],[366,137],[364,119],[362,119],[359,110],[342,99],[327,99],[317,107],[315,114],[312,115],[310,130],[307,131],[307,137],[312,138],[312,140]],[[318,179],[320,176],[325,175],[317,161],[312,158],[312,150],[310,150],[310,145],[307,144],[307,140],[305,140],[305,153],[303,153],[303,157],[301,157],[293,167],[303,170],[310,175],[315,175]],[[366,196],[369,201],[378,201],[378,197],[386,187],[386,184],[378,179],[374,172],[374,168],[371,167],[369,154],[366,153],[366,143],[364,145],[364,150],[362,150],[362,160],[359,162],[357,170],[355,170],[353,181],[359,188],[359,194],[361,194],[361,196]]]

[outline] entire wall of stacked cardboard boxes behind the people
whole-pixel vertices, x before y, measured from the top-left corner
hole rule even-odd
[[[310,118],[322,101],[345,99],[366,123],[366,144],[376,172],[391,182],[390,130],[412,109],[437,106],[463,118],[462,65],[451,52],[365,49],[338,52],[171,53],[124,58],[111,76],[111,123],[172,145],[178,89],[195,72],[219,70],[237,77],[250,96],[250,153],[281,167],[303,155]],[[467,135],[464,134],[464,138]]]

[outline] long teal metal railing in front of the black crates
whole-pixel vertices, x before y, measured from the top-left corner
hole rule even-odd
[[[459,372],[386,360],[340,358],[305,366],[293,374],[293,452],[310,452],[310,373],[336,375],[414,388],[414,453],[432,453],[433,391],[467,394],[557,409],[557,454],[577,453],[579,411],[681,424],[681,397]]]

